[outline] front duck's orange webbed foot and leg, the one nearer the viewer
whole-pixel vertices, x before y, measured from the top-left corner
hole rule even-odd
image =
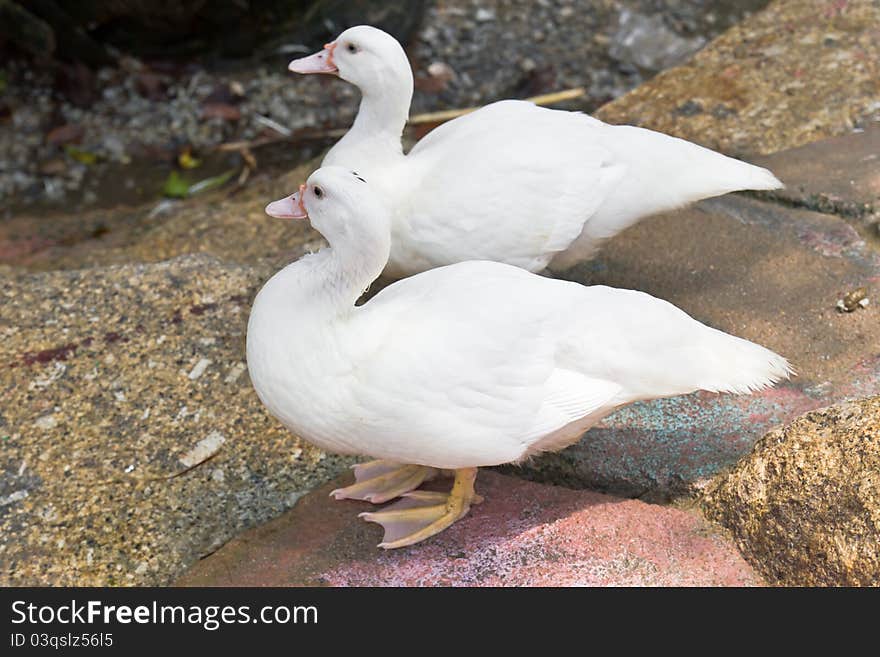
[[[385,529],[380,548],[390,550],[413,545],[442,532],[464,517],[471,504],[482,501],[474,492],[476,478],[476,468],[461,468],[455,471],[455,483],[449,494],[412,491],[386,509],[361,513],[359,517]]]

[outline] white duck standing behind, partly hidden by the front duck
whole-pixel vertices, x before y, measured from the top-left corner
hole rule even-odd
[[[361,91],[354,125],[323,166],[358,171],[388,204],[388,276],[476,259],[561,270],[645,216],[782,186],[691,142],[519,100],[445,123],[404,155],[413,76],[403,48],[369,26],[324,48],[290,70],[337,74]]]

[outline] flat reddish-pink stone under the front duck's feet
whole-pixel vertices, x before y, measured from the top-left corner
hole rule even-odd
[[[348,483],[350,475],[342,481]],[[760,578],[695,513],[481,472],[485,502],[420,545],[380,551],[365,502],[328,484],[177,583],[226,586],[749,586]],[[441,482],[437,482],[441,483]],[[448,483],[448,482],[442,482]]]

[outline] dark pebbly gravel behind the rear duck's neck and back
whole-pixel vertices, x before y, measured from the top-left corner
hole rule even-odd
[[[417,80],[413,111],[580,86],[587,94],[568,107],[591,111],[656,73],[652,67],[686,58],[764,4],[766,0],[440,0],[429,8],[409,48]],[[77,104],[70,100],[77,94],[59,92],[51,71],[25,62],[3,65],[3,214],[11,216],[13,208],[34,203],[88,206],[100,202],[101,181],[115,167],[142,159],[170,165],[186,144],[198,152],[224,141],[271,134],[265,119],[290,130],[344,127],[357,108],[357,92],[350,85],[293,76],[281,60],[231,73],[193,65],[175,73],[156,68],[123,58],[118,68],[97,71],[93,81],[83,78],[94,91]],[[205,116],[206,105],[218,94],[222,105],[234,108],[229,110],[233,118]],[[63,125],[81,128],[81,137],[75,143],[50,143],[50,130]],[[82,161],[91,158],[96,161]]]

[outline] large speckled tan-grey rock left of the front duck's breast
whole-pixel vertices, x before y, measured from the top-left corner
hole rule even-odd
[[[247,311],[270,271],[188,256],[4,275],[0,583],[166,583],[343,467],[251,388]]]

